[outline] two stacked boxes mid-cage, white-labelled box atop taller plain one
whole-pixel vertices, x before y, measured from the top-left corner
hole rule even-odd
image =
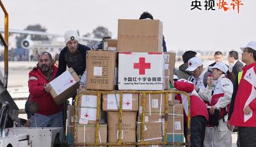
[[[118,122],[120,109],[120,95],[102,95],[103,111],[108,114],[108,142],[117,143],[118,141]],[[138,112],[138,94],[124,93],[122,97],[122,143],[136,142],[136,118]]]

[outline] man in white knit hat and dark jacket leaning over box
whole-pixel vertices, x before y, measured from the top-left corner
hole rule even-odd
[[[76,74],[81,77],[86,69],[86,51],[89,47],[79,43],[77,31],[69,30],[64,34],[65,44],[60,52],[59,66],[56,77],[61,75],[68,68],[72,67]]]

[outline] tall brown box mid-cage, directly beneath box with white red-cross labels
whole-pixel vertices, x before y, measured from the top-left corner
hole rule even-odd
[[[137,112],[122,112],[122,143],[136,142],[136,116]],[[118,122],[119,112],[108,112],[108,143],[117,143],[118,141]]]

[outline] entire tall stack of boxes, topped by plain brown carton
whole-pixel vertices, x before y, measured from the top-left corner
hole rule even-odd
[[[86,90],[114,91],[117,86],[118,90],[170,89],[175,54],[163,53],[162,43],[163,24],[160,20],[118,20],[118,40],[104,40],[103,50],[87,52]],[[168,100],[168,141],[177,141],[177,133],[182,141],[182,105],[174,105],[172,94]],[[108,125],[100,124],[100,143],[106,143],[107,138],[108,143],[117,143],[119,135],[122,143],[140,142],[142,102],[143,95],[123,93],[119,134],[120,95],[102,94],[100,109],[107,112]],[[145,102],[144,141],[160,143],[164,133],[164,94],[147,93]],[[96,116],[97,96],[82,95],[77,103],[77,143],[94,143]],[[72,134],[72,130],[68,133]]]

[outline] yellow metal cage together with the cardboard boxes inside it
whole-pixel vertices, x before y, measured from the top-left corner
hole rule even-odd
[[[188,98],[187,139],[177,93]],[[74,146],[189,146],[190,98],[183,91],[86,91],[67,118],[67,144]]]

